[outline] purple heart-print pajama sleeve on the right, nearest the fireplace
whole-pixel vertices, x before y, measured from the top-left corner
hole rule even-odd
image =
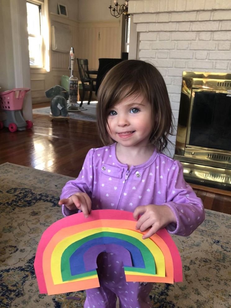
[[[169,233],[188,236],[205,219],[202,200],[196,196],[191,186],[183,178],[183,167],[174,161],[169,170],[166,203],[174,212],[177,224],[169,224]]]

